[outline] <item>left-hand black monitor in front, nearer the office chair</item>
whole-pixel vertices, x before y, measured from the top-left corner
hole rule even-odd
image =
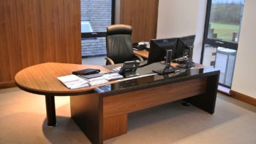
[[[177,41],[177,38],[152,39],[150,42],[150,50],[148,54],[148,64],[164,61],[166,56],[166,50],[168,49],[172,49],[173,59],[173,54],[175,54]]]

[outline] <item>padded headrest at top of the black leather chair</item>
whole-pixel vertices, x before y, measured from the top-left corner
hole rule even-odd
[[[132,26],[130,25],[109,25],[107,27],[107,36],[115,34],[129,34],[132,35]]]

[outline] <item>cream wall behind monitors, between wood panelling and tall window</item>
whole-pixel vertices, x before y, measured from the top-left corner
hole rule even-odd
[[[195,34],[193,60],[200,62],[207,0],[159,0],[157,39]]]

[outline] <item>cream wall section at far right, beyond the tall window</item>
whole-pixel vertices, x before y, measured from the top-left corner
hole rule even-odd
[[[256,98],[256,1],[246,0],[231,89]]]

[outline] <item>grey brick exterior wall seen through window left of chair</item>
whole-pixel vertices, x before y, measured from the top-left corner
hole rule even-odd
[[[104,32],[111,24],[112,0],[81,0],[81,20],[89,21],[93,32]],[[82,56],[106,55],[105,38],[82,39]]]

